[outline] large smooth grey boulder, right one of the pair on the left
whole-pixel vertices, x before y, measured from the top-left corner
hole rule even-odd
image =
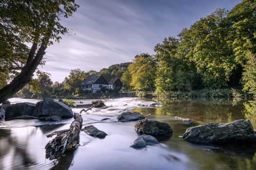
[[[73,112],[70,107],[62,102],[57,102],[49,98],[37,102],[33,112],[34,117],[59,116],[61,118],[72,118]]]

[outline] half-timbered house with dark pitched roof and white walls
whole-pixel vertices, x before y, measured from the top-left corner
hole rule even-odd
[[[102,75],[98,75],[84,79],[84,81],[79,85],[79,88],[82,90],[88,90],[90,93],[96,93],[98,90],[101,90],[102,86],[109,89],[108,82]]]

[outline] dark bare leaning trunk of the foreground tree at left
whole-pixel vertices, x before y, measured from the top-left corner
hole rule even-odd
[[[48,42],[49,37],[44,38],[44,40],[45,40],[44,42]],[[12,98],[15,93],[17,93],[21,88],[23,88],[31,80],[33,73],[37,69],[40,61],[43,58],[43,55],[45,54],[47,43],[43,43],[43,44],[44,45],[40,46],[36,54],[38,43],[33,43],[26,65],[22,68],[22,70],[20,71],[20,74],[16,76],[10,84],[5,85],[3,88],[0,89],[0,103],[6,101],[7,99]]]

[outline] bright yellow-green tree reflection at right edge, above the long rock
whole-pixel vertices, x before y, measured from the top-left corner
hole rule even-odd
[[[256,121],[256,101],[245,102],[243,105],[244,110],[242,113],[244,114],[244,118]]]

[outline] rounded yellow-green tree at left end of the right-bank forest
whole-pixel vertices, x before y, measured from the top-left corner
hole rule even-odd
[[[155,90],[156,60],[154,57],[148,53],[136,55],[128,70],[132,76],[131,86],[135,90]]]

